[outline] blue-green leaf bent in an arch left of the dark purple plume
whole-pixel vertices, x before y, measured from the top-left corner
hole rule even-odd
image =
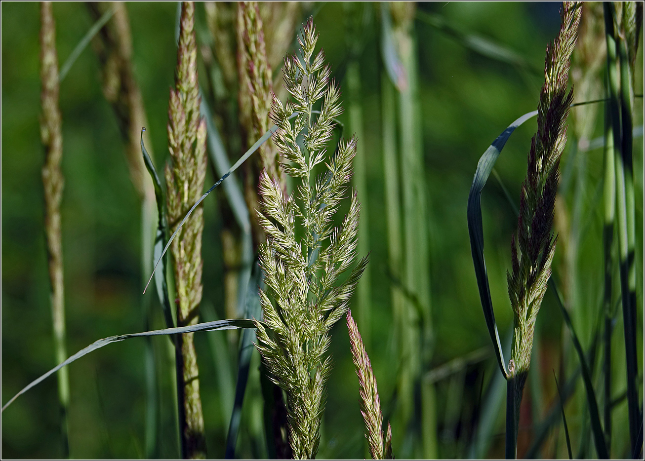
[[[488,177],[490,176],[493,166],[497,161],[497,157],[502,152],[506,141],[510,135],[515,131],[515,128],[526,122],[531,117],[537,115],[537,110],[526,113],[519,117],[516,121],[511,123],[501,135],[493,141],[484,155],[477,163],[477,171],[473,178],[473,184],[470,186],[470,193],[468,194],[468,235],[470,235],[470,248],[473,255],[473,264],[475,265],[475,275],[477,276],[477,286],[479,288],[479,297],[484,310],[484,319],[486,319],[486,326],[488,333],[493,342],[495,349],[495,356],[497,363],[502,371],[504,377],[507,376],[506,366],[504,366],[504,355],[502,355],[502,347],[499,343],[499,333],[497,332],[497,324],[495,324],[495,313],[493,312],[493,302],[490,297],[490,286],[488,285],[488,273],[486,273],[486,262],[484,261],[484,229],[482,226],[482,210],[481,210],[481,193]]]

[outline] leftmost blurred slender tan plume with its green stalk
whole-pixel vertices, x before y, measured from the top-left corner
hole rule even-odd
[[[43,166],[43,189],[45,191],[45,239],[50,281],[50,302],[54,326],[54,350],[56,362],[67,358],[65,346],[65,298],[63,284],[63,243],[61,239],[61,199],[64,178],[61,172],[63,159],[63,133],[58,94],[58,54],[56,52],[56,25],[51,2],[41,2],[40,77],[41,141],[45,146]],[[58,400],[61,406],[61,434],[63,456],[70,453],[67,428],[67,409],[70,402],[70,378],[67,368],[59,370]]]

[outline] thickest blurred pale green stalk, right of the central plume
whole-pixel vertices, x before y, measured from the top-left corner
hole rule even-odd
[[[432,320],[430,315],[430,260],[428,255],[427,205],[424,182],[421,120],[417,88],[417,55],[413,37],[415,6],[412,2],[393,3],[391,6],[394,41],[407,84],[399,88],[399,135],[401,152],[405,271],[408,289],[417,293],[422,311],[417,314],[411,303],[406,303],[406,327],[402,340],[410,341],[408,372],[410,384],[419,382],[422,368],[432,355]],[[419,328],[419,326],[421,328]],[[403,367],[402,367],[403,369]],[[403,372],[403,371],[402,371]],[[404,372],[403,372],[404,373]],[[437,457],[437,434],[434,387],[421,381],[421,437],[426,458]],[[412,415],[412,391],[402,387],[401,410],[403,420]]]

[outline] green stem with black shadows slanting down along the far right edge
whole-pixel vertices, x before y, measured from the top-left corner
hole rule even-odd
[[[631,95],[626,44],[616,29],[613,3],[604,3],[607,39],[607,66],[610,90],[610,116],[615,149],[616,224],[620,264],[620,293],[627,366],[627,397],[630,422],[630,447],[633,449],[639,431],[640,409],[637,386],[636,306],[634,268],[634,191],[631,166]],[[629,135],[625,127],[629,127]]]

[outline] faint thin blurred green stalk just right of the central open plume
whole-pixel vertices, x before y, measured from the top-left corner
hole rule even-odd
[[[347,67],[347,92],[349,95],[348,117],[349,130],[356,139],[364,139],[362,129],[361,107],[361,72],[357,59],[352,59]],[[361,224],[359,225],[359,255],[364,256],[370,252],[369,215],[368,215],[368,190],[367,190],[367,161],[365,157],[364,142],[359,142],[354,157],[353,180],[356,191],[361,199]],[[358,324],[361,329],[363,341],[370,345],[372,331],[372,283],[370,281],[370,265],[365,268],[358,291]]]

